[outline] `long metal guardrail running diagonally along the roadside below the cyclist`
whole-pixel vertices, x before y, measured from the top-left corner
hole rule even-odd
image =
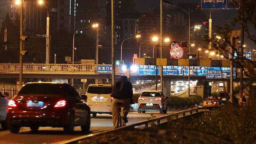
[[[71,140],[65,140],[65,141],[56,142],[56,143],[52,143],[52,144],[86,144],[86,143],[84,143],[84,141],[87,141],[88,139],[95,138],[95,137],[100,136],[100,135],[110,134],[110,133],[113,133],[113,132],[117,132],[119,130],[135,129],[137,126],[143,126],[143,125],[144,125],[144,128],[148,128],[148,127],[150,127],[151,123],[154,123],[155,125],[164,124],[164,123],[169,122],[173,119],[177,119],[177,118],[181,118],[181,117],[185,117],[185,116],[191,116],[191,115],[196,114],[196,113],[202,113],[202,112],[205,112],[205,111],[209,113],[211,111],[211,109],[215,109],[215,108],[218,108],[218,107],[192,108],[192,109],[189,109],[189,110],[179,111],[179,112],[176,112],[174,114],[169,114],[169,115],[165,115],[165,116],[162,116],[162,117],[151,118],[151,119],[144,120],[144,121],[141,121],[141,122],[137,122],[135,124],[131,124],[131,125],[128,125],[128,126],[123,126],[123,127],[119,127],[119,128],[116,128],[116,129],[106,130],[106,131],[95,133],[95,134],[84,135],[84,136],[73,138]],[[203,110],[203,109],[205,109],[205,111],[199,111],[199,110]],[[165,120],[165,121],[161,122],[161,120]]]

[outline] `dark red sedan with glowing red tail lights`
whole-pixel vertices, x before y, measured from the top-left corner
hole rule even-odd
[[[7,123],[11,133],[28,126],[37,131],[39,126],[64,127],[72,132],[74,126],[82,131],[90,129],[90,108],[68,83],[29,82],[9,100]]]

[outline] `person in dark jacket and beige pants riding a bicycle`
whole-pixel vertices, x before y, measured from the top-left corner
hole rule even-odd
[[[112,92],[112,118],[114,128],[119,127],[119,114],[125,123],[128,122],[127,115],[130,110],[130,99],[133,97],[132,84],[128,81],[127,76],[122,75],[117,82],[114,84]],[[119,107],[121,112],[119,111]]]

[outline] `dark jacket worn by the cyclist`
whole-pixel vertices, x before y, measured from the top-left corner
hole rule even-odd
[[[129,81],[119,79],[117,82],[115,82],[112,94],[113,98],[130,99],[132,96],[132,84]]]

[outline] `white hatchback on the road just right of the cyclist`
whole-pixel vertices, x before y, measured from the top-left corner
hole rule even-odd
[[[138,98],[138,113],[146,111],[159,111],[161,114],[167,112],[167,99],[161,91],[146,90]]]

